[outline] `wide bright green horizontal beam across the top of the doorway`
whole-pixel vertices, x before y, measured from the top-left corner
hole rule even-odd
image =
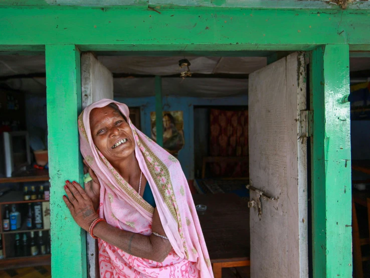
[[[279,51],[323,44],[370,50],[370,37],[363,36],[369,28],[366,9],[5,7],[0,30],[8,32],[0,50],[45,44],[76,44],[81,51]]]

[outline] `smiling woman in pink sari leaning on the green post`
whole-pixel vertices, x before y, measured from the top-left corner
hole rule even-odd
[[[100,276],[213,277],[179,162],[135,128],[125,104],[93,103],[78,125],[93,180],[85,190],[66,181],[63,199],[99,238]]]

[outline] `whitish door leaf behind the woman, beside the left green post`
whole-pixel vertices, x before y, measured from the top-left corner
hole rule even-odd
[[[82,108],[102,98],[113,99],[113,75],[92,53],[81,56]],[[100,277],[97,242],[86,234],[87,276]]]

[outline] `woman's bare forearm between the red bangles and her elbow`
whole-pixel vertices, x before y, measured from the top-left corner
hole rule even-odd
[[[120,230],[106,222],[96,224],[94,235],[126,253],[157,262],[162,262],[170,251],[168,244],[165,244],[167,242],[164,242],[166,239]]]

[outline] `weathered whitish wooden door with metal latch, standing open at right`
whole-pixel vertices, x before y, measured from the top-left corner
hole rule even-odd
[[[249,75],[249,165],[260,197],[250,211],[251,277],[308,277],[307,138],[304,53],[293,53]],[[253,203],[250,203],[253,204]]]

